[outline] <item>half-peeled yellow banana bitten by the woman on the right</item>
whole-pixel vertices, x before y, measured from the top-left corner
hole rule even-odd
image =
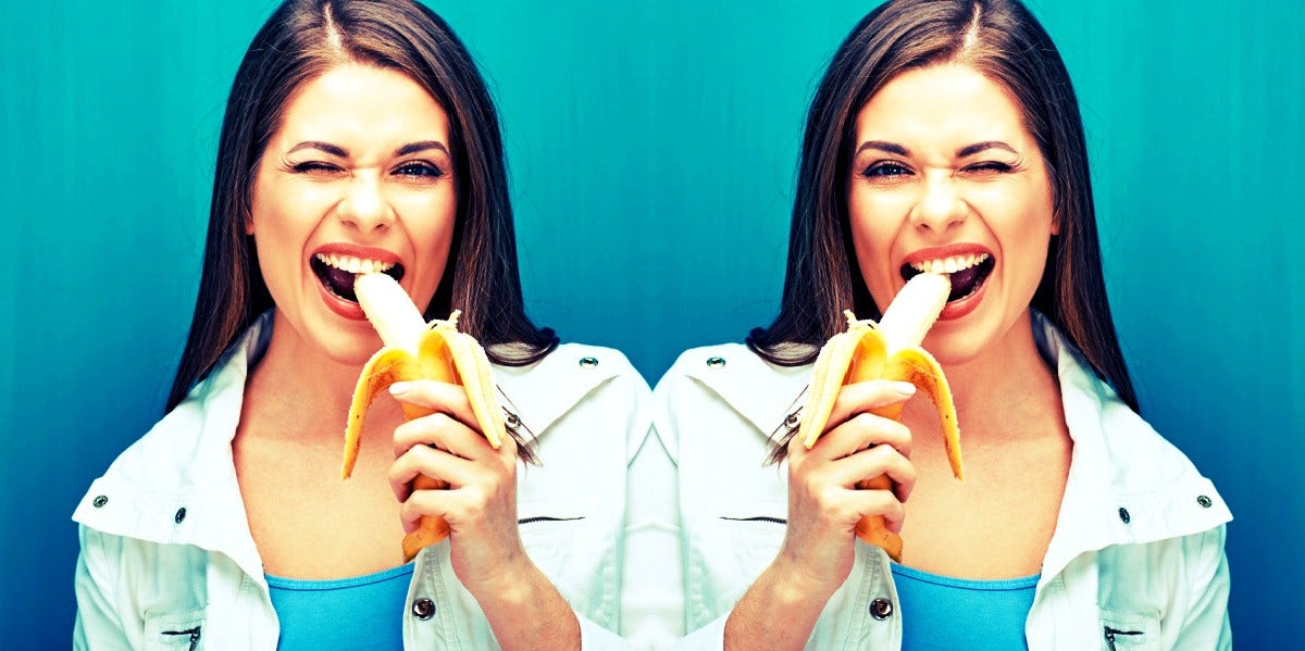
[[[951,280],[940,274],[919,274],[907,282],[883,313],[878,325],[873,321],[857,321],[847,310],[847,331],[834,335],[821,348],[816,357],[816,369],[808,389],[808,402],[803,407],[797,436],[810,449],[816,445],[834,401],[844,385],[868,380],[894,380],[911,382],[929,394],[938,410],[942,434],[947,447],[947,461],[951,474],[964,479],[960,463],[960,429],[957,425],[957,410],[951,402],[951,389],[942,374],[942,367],[933,359],[920,342],[937,321]],[[903,403],[870,410],[878,416],[899,420]],[[886,489],[891,487],[887,476],[861,481],[857,488]],[[878,545],[895,561],[902,560],[902,536],[890,532],[882,515],[867,517],[856,524],[856,535],[869,544]]]

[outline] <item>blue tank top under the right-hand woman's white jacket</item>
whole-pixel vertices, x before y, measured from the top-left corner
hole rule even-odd
[[[1037,574],[1000,581],[942,577],[893,564],[902,651],[1028,648],[1024,621]]]

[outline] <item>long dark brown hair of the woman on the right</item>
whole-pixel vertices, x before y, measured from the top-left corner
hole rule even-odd
[[[856,114],[893,77],[940,63],[972,67],[1015,95],[1060,224],[1031,304],[1138,411],[1105,296],[1078,99],[1051,37],[1018,0],[890,0],[852,29],[806,116],[779,316],[753,329],[748,346],[774,364],[809,364],[842,331],[843,309],[880,318],[847,211]]]

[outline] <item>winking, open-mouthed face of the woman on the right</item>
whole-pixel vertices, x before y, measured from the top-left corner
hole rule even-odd
[[[1024,317],[1057,232],[1047,166],[1014,97],[944,64],[890,80],[856,117],[848,214],[856,261],[885,309],[906,279],[951,274],[925,347],[960,364]]]

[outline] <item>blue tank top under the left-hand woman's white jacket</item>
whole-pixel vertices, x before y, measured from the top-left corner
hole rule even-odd
[[[412,564],[345,579],[266,577],[281,621],[278,651],[403,648],[403,607]]]

